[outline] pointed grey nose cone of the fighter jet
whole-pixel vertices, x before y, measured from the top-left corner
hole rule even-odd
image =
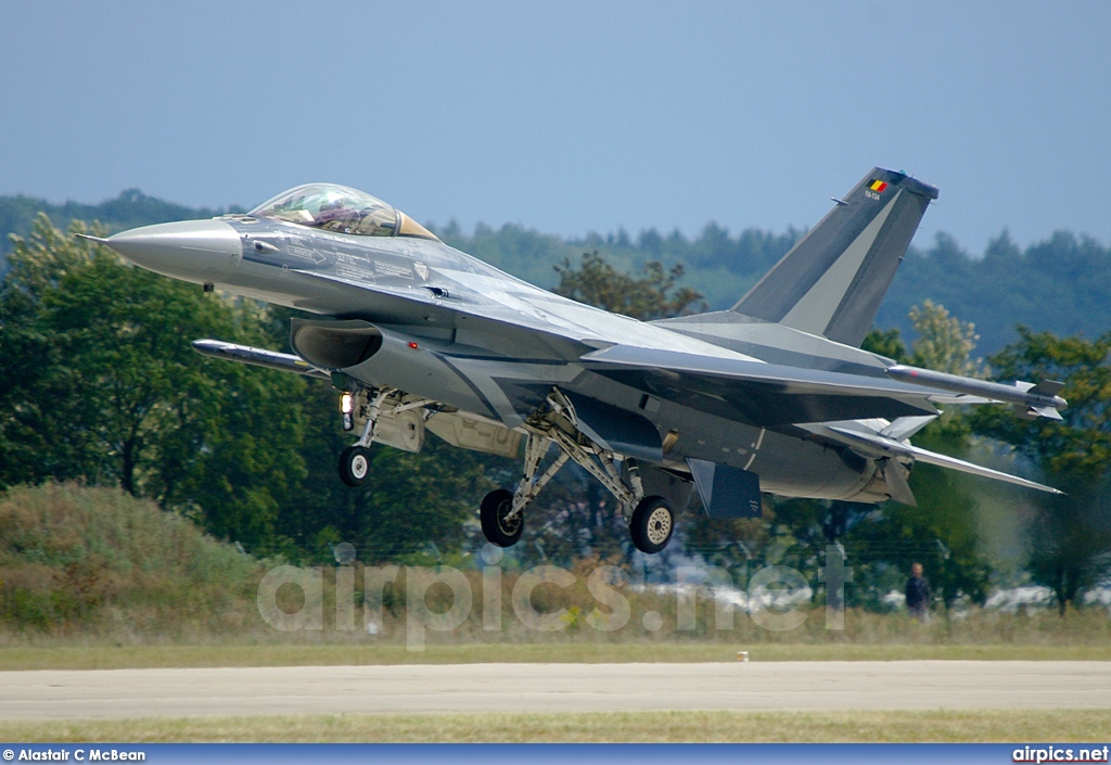
[[[143,226],[104,244],[137,266],[197,284],[227,279],[243,256],[239,234],[222,220]]]

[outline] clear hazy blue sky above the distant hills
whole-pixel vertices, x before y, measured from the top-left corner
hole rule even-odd
[[[871,167],[938,230],[1111,241],[1111,2],[0,0],[0,193],[469,229],[811,226]]]

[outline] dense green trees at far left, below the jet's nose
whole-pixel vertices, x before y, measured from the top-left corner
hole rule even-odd
[[[271,544],[303,474],[301,417],[284,403],[304,381],[189,347],[212,336],[264,345],[259,307],[133,268],[44,217],[10,260],[0,480],[119,485],[219,536]]]

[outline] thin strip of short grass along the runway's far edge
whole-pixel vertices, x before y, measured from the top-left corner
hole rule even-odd
[[[725,645],[704,643],[539,643],[432,645],[139,645],[0,648],[0,670],[143,667],[338,666],[359,664],[985,659],[1111,660],[1111,646]]]

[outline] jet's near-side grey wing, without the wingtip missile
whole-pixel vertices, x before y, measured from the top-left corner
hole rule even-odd
[[[661,398],[761,427],[798,423],[935,415],[932,395],[887,377],[763,364],[634,346],[611,346],[579,359],[592,371]]]

